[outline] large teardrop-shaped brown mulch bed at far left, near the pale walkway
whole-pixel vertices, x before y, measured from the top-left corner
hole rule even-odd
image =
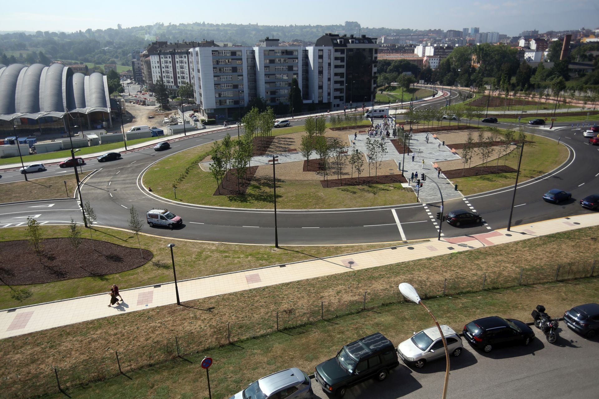
[[[153,254],[110,242],[81,239],[75,249],[68,238],[45,239],[41,254],[28,240],[0,242],[0,284],[41,284],[125,272],[146,264]],[[108,285],[108,282],[107,282]]]

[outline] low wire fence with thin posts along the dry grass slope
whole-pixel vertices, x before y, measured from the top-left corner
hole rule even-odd
[[[594,277],[595,260],[573,261],[553,266],[514,269],[513,272],[482,272],[456,278],[410,277],[410,284],[418,290],[421,298],[455,296],[498,288],[518,287],[552,281],[567,281]],[[239,340],[271,334],[274,331],[308,327],[319,320],[333,319],[355,314],[363,310],[376,309],[386,304],[404,301],[399,290],[382,287],[378,290],[345,293],[335,303],[319,301],[310,309],[279,309],[265,319],[248,322],[220,322],[204,325],[184,336],[165,337],[138,348],[123,348],[121,351],[103,354],[101,357],[85,357],[85,351],[77,355],[77,364],[38,370],[23,375],[19,370],[0,377],[0,399],[31,398],[37,395],[65,392],[68,388],[111,377],[128,375],[130,371],[155,366],[210,348],[228,345]]]

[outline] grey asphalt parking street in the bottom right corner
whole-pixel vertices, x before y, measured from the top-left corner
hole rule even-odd
[[[577,335],[563,322],[560,327],[554,345],[532,327],[537,338],[530,345],[498,348],[489,354],[462,339],[465,351],[451,358],[447,398],[596,399],[599,341]],[[422,369],[400,363],[383,382],[356,385],[347,390],[344,399],[439,398],[444,377],[444,360]],[[318,382],[312,380],[312,384],[317,397],[328,398]]]

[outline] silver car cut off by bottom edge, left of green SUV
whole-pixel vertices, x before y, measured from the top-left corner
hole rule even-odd
[[[312,383],[299,368],[288,368],[251,383],[229,399],[312,399]]]

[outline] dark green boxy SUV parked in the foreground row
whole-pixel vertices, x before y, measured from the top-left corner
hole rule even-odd
[[[384,380],[399,364],[393,343],[375,333],[344,345],[337,356],[316,366],[314,379],[326,393],[342,397],[347,388],[367,379]]]

